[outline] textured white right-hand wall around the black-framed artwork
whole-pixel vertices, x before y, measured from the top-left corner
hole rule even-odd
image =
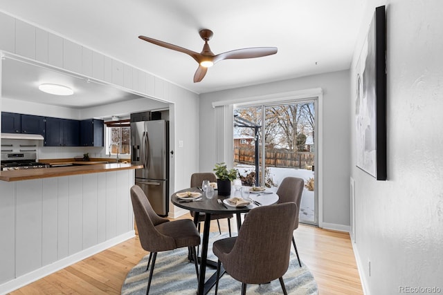
[[[354,66],[374,8],[384,2],[388,180],[357,169],[352,148],[354,249],[365,294],[397,294],[401,286],[443,292],[443,1],[369,1],[351,66],[352,125]],[[352,128],[352,147],[354,140]]]

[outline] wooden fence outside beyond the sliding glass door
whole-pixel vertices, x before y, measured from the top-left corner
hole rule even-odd
[[[261,155],[261,151],[259,151]],[[254,164],[255,149],[236,147],[234,149],[234,162],[236,164]],[[261,159],[260,164],[261,164]],[[265,151],[266,166],[311,169],[314,166],[314,153],[310,152],[289,152],[277,149]]]

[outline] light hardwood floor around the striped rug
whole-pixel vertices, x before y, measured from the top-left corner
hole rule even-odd
[[[231,223],[236,231],[235,218]],[[220,224],[228,231],[225,220]],[[217,231],[216,221],[211,231]],[[294,237],[300,259],[314,274],[318,294],[363,294],[349,234],[300,225]],[[120,294],[127,273],[146,254],[136,236],[10,294]]]

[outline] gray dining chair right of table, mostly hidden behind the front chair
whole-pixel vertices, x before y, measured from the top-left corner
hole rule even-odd
[[[302,200],[303,188],[305,187],[305,181],[301,178],[287,177],[282,180],[280,187],[278,187],[278,204],[286,202],[294,202],[297,204],[297,215],[294,220],[293,230],[298,229],[298,218],[300,216],[300,202]],[[298,256],[298,250],[296,246],[296,240],[292,236],[292,244],[294,249],[296,249],[298,265],[302,267],[300,262],[300,257]]]

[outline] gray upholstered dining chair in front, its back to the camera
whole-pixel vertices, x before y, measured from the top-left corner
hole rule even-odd
[[[242,294],[246,294],[246,284],[269,283],[276,278],[287,294],[282,276],[289,266],[297,209],[293,202],[257,207],[249,211],[237,237],[214,242],[213,252],[219,258],[215,294],[221,265],[242,282]]]

